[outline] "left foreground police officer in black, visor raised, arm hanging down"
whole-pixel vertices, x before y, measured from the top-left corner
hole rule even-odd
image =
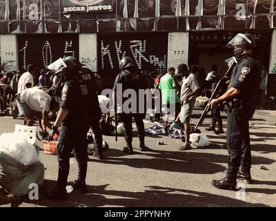
[[[71,57],[61,59],[59,70],[62,71],[62,78],[65,84],[61,93],[61,104],[59,114],[49,139],[57,133],[57,128],[61,125],[58,144],[57,160],[59,162],[59,175],[57,187],[46,194],[48,199],[66,199],[66,184],[70,169],[70,153],[73,150],[78,162],[79,173],[73,186],[75,189],[85,191],[86,170],[88,162],[88,151],[86,136],[89,129],[89,115],[86,108],[86,93],[81,90],[79,84],[79,66],[75,64]]]

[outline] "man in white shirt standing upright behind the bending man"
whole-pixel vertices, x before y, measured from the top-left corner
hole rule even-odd
[[[21,75],[21,77],[19,78],[17,85],[17,93],[21,93],[26,88],[32,88],[34,86],[34,77],[32,77],[32,75],[34,74],[34,66],[32,64],[29,64],[27,70],[28,71],[26,73],[23,73],[23,75]],[[23,110],[18,102],[17,107],[19,115],[22,116]]]

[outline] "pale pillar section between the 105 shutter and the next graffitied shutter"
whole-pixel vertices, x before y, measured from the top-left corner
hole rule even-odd
[[[79,61],[97,72],[97,34],[79,34]]]

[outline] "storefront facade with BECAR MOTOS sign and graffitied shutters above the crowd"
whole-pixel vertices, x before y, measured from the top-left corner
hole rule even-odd
[[[223,73],[237,32],[257,39],[264,90],[276,95],[275,0],[0,0],[1,70],[46,67],[73,55],[110,87],[121,57],[147,75],[181,62]],[[263,95],[262,95],[263,96]]]

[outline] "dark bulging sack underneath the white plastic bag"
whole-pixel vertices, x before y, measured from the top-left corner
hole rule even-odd
[[[44,166],[41,162],[24,166],[15,157],[0,151],[0,186],[8,193],[21,197],[28,195],[30,184],[43,185]]]

